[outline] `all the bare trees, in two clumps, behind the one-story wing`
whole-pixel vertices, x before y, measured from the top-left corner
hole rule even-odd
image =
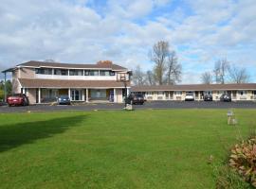
[[[154,62],[154,68],[144,72],[137,65],[133,70],[134,85],[174,85],[181,82],[182,66],[168,42],[155,43],[150,50],[149,59]],[[248,80],[247,69],[237,67],[227,59],[217,60],[212,71],[201,75],[201,82],[204,84],[246,83]]]

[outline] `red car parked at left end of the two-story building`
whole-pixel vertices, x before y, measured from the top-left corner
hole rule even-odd
[[[28,106],[29,100],[26,94],[10,94],[7,99],[9,106]]]

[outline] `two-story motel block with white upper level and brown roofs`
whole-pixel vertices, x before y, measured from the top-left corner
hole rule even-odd
[[[96,64],[31,60],[3,71],[7,72],[12,73],[12,93],[26,94],[30,104],[54,102],[60,95],[73,102],[121,103],[125,90],[130,90],[131,72],[109,60]]]

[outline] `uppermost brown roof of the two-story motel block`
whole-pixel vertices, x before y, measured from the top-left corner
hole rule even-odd
[[[120,70],[127,71],[127,68],[119,66],[112,63],[112,61],[105,60],[99,61],[96,64],[79,64],[79,63],[61,63],[54,61],[36,61],[30,60],[25,63],[21,63],[17,66],[25,67],[54,67],[54,68],[66,68],[66,69],[110,69],[110,70]]]

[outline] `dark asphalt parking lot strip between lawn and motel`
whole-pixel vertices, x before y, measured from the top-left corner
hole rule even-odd
[[[27,107],[1,106],[0,113],[5,112],[58,112],[58,111],[96,111],[96,110],[122,110],[124,104],[99,103],[81,104],[74,106],[50,106],[32,105]],[[144,105],[134,105],[135,110],[143,109],[256,109],[256,102],[177,102],[177,101],[154,101]]]

